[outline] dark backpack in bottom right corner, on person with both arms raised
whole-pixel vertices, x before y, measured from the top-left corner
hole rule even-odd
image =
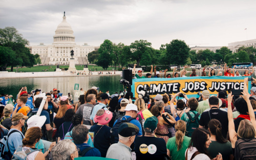
[[[234,147],[234,159],[256,159],[256,139],[238,139]]]

